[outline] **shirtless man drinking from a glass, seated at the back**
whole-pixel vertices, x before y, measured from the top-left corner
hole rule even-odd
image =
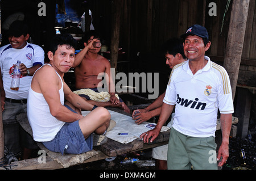
[[[100,37],[97,35],[96,31],[92,30],[89,31],[85,37],[85,48],[76,54],[75,63],[73,65],[73,68],[75,68],[76,89],[93,89],[94,91],[97,91],[97,87],[102,87],[102,79],[98,79],[98,77],[103,77],[106,74],[108,75],[106,76],[106,79],[108,79],[107,85],[110,100],[108,102],[88,101],[101,107],[120,107],[125,112],[130,113],[130,109],[126,104],[115,96],[114,81],[110,77],[110,62],[105,57],[98,54],[101,47],[94,47],[94,42],[100,42]]]

